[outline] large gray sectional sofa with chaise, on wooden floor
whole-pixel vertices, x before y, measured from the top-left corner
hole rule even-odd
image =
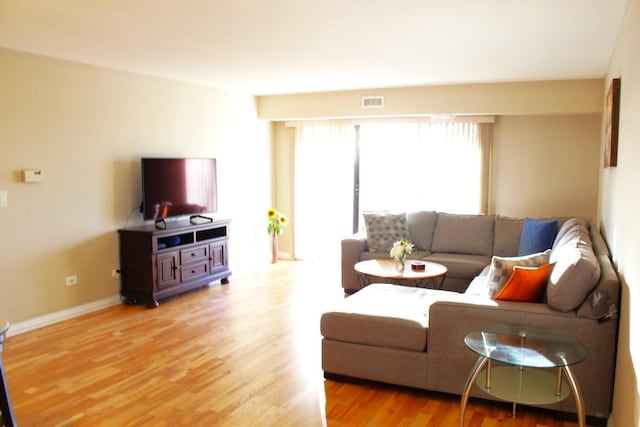
[[[588,417],[611,412],[616,360],[620,284],[607,245],[581,218],[558,219],[548,262],[553,270],[540,301],[495,300],[487,293],[496,260],[517,257],[524,218],[398,214],[397,233],[415,244],[411,255],[444,264],[444,290],[393,284],[361,288],[353,270],[365,259],[389,258],[389,241],[369,234],[342,242],[342,286],[352,295],[321,318],[322,368],[327,378],[359,378],[461,394],[477,355],[464,337],[494,326],[523,326],[574,338],[589,353],[574,367]],[[371,243],[371,239],[377,240]],[[371,250],[373,247],[374,250]],[[517,259],[517,258],[513,258]],[[546,279],[545,279],[546,280]],[[472,396],[492,399],[474,387]],[[569,397],[543,407],[575,413]]]

